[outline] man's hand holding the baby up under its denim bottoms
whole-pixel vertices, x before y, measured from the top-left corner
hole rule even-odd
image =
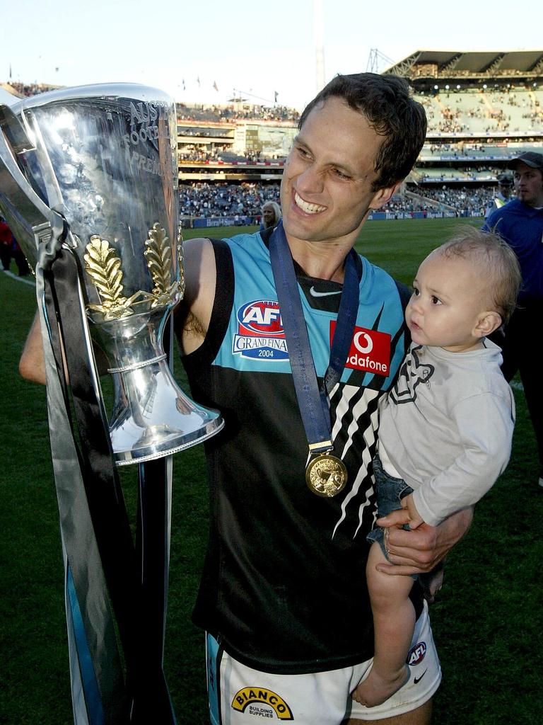
[[[405,523],[399,520],[406,516],[408,514],[400,510],[379,519],[385,529],[384,542],[392,562],[377,566],[383,573],[405,575],[431,571],[468,531],[473,520],[473,507],[452,514],[439,526],[421,523],[414,531],[399,528]]]

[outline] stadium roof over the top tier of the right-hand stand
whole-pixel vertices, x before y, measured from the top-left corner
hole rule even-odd
[[[384,71],[415,79],[459,75],[541,75],[543,50],[444,51],[418,50]]]

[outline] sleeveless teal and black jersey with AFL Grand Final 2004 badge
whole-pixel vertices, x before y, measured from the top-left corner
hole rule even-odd
[[[316,496],[305,480],[308,442],[263,236],[213,241],[211,323],[184,358],[193,397],[225,421],[206,443],[211,532],[193,620],[254,668],[325,671],[373,653],[371,460],[379,398],[405,355],[403,308],[395,281],[358,257],[353,343],[329,392],[334,453],[348,482],[333,498]],[[342,285],[296,271],[320,384]]]

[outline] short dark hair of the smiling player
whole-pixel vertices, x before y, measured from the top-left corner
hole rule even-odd
[[[366,116],[371,128],[384,140],[375,159],[379,173],[373,191],[394,186],[413,168],[426,138],[424,107],[411,98],[409,84],[397,75],[351,73],[336,75],[309,103],[300,116],[301,130],[317,104],[331,97],[343,99]]]

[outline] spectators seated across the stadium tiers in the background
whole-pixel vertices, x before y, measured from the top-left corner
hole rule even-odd
[[[4,83],[8,90],[20,96],[32,96],[54,89],[45,83]],[[429,120],[429,132],[471,133],[481,128],[483,134],[496,131],[534,130],[534,138],[526,142],[540,141],[539,131],[543,130],[543,91],[525,84],[510,84],[501,88],[437,88],[432,94],[418,96],[425,108]],[[236,154],[232,146],[220,143],[218,128],[206,128],[206,124],[235,123],[240,120],[254,120],[268,123],[295,125],[299,120],[296,109],[279,104],[260,106],[236,101],[227,106],[219,104],[187,105],[177,103],[177,119],[180,123],[179,136],[198,136],[202,142],[193,138],[187,144],[179,144],[180,164],[195,162],[256,164],[261,162],[282,162],[284,157],[264,157],[258,152]],[[201,128],[183,128],[182,122],[202,122]],[[224,134],[229,133],[224,128]],[[210,138],[206,143],[206,137]],[[214,138],[214,141],[211,141]],[[219,142],[217,142],[219,141]],[[413,193],[395,196],[384,211],[387,212],[425,212],[431,210],[455,211],[458,215],[484,215],[485,209],[494,198],[496,186],[492,182],[500,172],[500,167],[492,162],[500,162],[518,154],[515,148],[508,146],[507,140],[499,143],[488,136],[486,143],[481,139],[472,141],[460,139],[438,139],[430,136],[421,154],[422,164],[418,167],[416,179],[418,186],[408,186]],[[485,159],[487,157],[487,159]],[[461,167],[437,168],[435,162],[451,160],[466,162]],[[487,160],[487,163],[485,161]],[[434,161],[425,165],[424,161]],[[469,165],[469,162],[479,164]],[[426,182],[426,183],[424,183]],[[471,183],[469,183],[471,182]],[[180,184],[180,209],[186,218],[233,217],[259,223],[261,207],[266,201],[279,200],[278,183],[204,183]]]

